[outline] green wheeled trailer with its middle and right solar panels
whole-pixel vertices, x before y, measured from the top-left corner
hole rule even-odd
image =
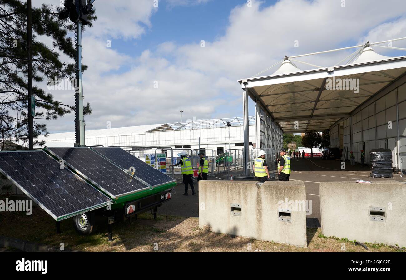
[[[45,147],[44,150],[114,201],[109,207],[73,219],[76,231],[84,235],[90,234],[102,217],[108,217],[109,240],[116,221],[131,221],[147,211],[156,218],[158,207],[171,200],[171,190],[176,185],[173,178],[121,148]],[[129,174],[130,167],[137,172]]]

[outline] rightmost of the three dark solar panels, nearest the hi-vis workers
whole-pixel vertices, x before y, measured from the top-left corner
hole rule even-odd
[[[149,164],[146,164],[141,159],[134,157],[121,148],[111,147],[91,149],[97,151],[97,153],[106,157],[123,169],[129,169],[133,166],[135,168],[134,176],[151,185],[151,187],[156,187],[175,181],[173,178],[162,173],[160,170],[153,168]]]

